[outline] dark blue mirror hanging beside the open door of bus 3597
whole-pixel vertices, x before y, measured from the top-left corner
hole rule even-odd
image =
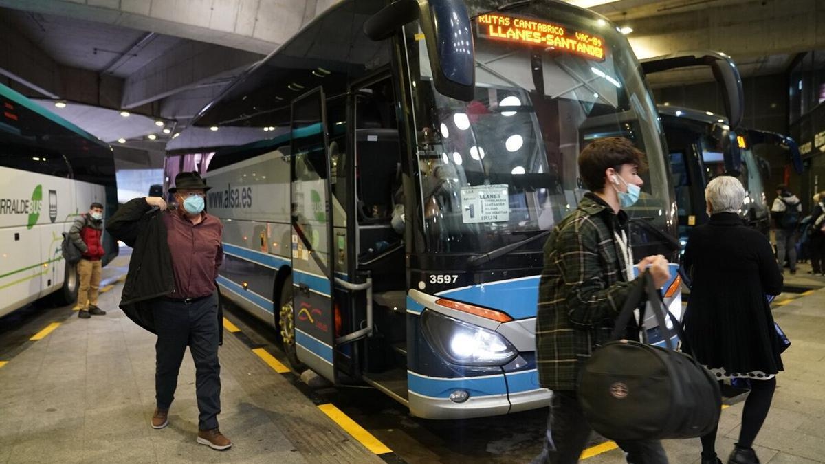
[[[419,20],[436,90],[464,102],[475,95],[473,25],[462,0],[398,0],[364,23],[371,40],[386,40]]]

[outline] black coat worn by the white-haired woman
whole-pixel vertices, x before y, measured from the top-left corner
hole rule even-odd
[[[765,235],[736,214],[714,214],[691,233],[684,264],[693,281],[685,333],[696,359],[731,373],[781,371],[766,295],[779,295],[783,280]]]

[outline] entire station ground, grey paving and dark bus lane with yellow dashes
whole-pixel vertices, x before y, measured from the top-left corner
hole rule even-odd
[[[32,308],[0,320],[0,463],[17,462],[530,462],[546,410],[433,421],[369,388],[312,391],[235,310],[220,348],[221,431],[233,447],[196,443],[195,368],[187,354],[167,428],[154,430],[154,340],[117,309],[128,252],[104,268],[105,316]],[[775,319],[792,346],[757,437],[761,462],[825,462],[825,277],[785,272]],[[30,314],[31,313],[31,314]],[[16,319],[15,319],[16,318]],[[745,395],[726,399],[717,447],[738,438]],[[333,405],[334,403],[334,405]],[[340,408],[340,409],[339,409]],[[350,419],[351,418],[351,419]],[[698,439],[665,442],[673,464],[698,463]],[[594,437],[582,462],[625,459]]]

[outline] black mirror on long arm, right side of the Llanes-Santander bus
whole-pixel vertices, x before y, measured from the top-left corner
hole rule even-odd
[[[676,53],[642,59],[645,74],[658,73],[670,69],[691,66],[709,66],[716,82],[722,84],[724,109],[731,127],[736,128],[742,122],[745,98],[742,92],[742,78],[733,59],[718,51],[677,51]]]

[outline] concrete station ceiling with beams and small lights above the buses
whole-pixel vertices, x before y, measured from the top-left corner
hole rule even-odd
[[[145,140],[151,126],[132,130],[120,116],[83,105],[115,115],[129,109],[150,122],[163,117],[181,130],[233,78],[336,1],[0,0],[0,79],[33,97],[68,100],[66,109],[88,118],[78,125],[103,140],[124,137],[141,149],[163,149],[163,142]],[[825,49],[825,0],[568,1],[632,27],[628,37],[640,58],[718,50],[747,77],[782,73],[796,54]],[[711,79],[707,69],[685,69],[653,74],[649,82]]]

